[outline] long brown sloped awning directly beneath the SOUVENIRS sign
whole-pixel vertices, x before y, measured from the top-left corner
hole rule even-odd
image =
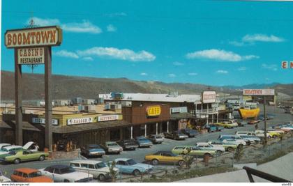
[[[78,125],[54,125],[52,126],[52,132],[58,134],[66,134],[66,133],[76,133],[76,132],[87,132],[90,130],[105,130],[111,128],[119,128],[126,127],[132,125],[127,121],[104,121],[98,123],[86,123],[86,124],[78,124]]]

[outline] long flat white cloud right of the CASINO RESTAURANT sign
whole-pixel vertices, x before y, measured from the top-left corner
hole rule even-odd
[[[147,51],[134,52],[130,49],[117,49],[114,47],[93,47],[90,49],[77,51],[80,56],[105,56],[112,59],[128,61],[154,61],[156,56]]]

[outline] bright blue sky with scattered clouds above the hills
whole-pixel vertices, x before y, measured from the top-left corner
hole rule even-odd
[[[7,29],[59,25],[52,73],[209,85],[293,83],[293,3],[2,1],[1,70],[14,70]],[[24,72],[31,69],[24,66]],[[43,65],[34,72],[43,73]]]

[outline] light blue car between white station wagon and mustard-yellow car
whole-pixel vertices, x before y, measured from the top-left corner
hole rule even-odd
[[[153,170],[153,166],[149,164],[137,163],[130,158],[117,158],[114,160],[115,167],[121,171],[121,173],[133,174],[139,176],[142,173],[148,173]]]

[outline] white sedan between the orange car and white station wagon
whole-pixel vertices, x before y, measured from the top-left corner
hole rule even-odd
[[[75,171],[73,167],[64,164],[47,166],[45,169],[39,169],[39,171],[43,176],[52,178],[54,182],[84,183],[93,180],[93,175]]]

